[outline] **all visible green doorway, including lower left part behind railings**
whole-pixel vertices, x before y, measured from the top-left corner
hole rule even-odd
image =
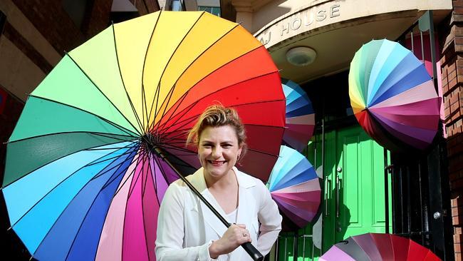
[[[281,233],[276,260],[318,260],[332,245],[351,235],[385,232],[383,147],[358,125],[329,131],[325,134],[323,168],[321,137],[313,137],[306,155],[319,175],[323,170],[322,251],[313,243],[320,235],[309,224],[296,232]]]

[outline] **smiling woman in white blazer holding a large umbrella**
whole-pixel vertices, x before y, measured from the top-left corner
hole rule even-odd
[[[261,180],[234,166],[246,152],[244,126],[234,109],[210,106],[188,134],[202,165],[187,179],[231,225],[228,229],[182,180],[167,189],[157,221],[157,260],[251,260],[251,242],[263,255],[281,230],[281,215]],[[259,225],[260,223],[260,225]]]

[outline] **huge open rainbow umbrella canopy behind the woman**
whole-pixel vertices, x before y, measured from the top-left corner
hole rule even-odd
[[[181,22],[179,22],[181,21]],[[114,24],[66,54],[31,93],[7,145],[12,229],[39,260],[155,260],[157,212],[199,167],[186,132],[219,101],[239,112],[241,170],[266,180],[285,100],[269,53],[238,24],[162,11]]]

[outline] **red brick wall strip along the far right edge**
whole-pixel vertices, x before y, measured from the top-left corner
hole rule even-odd
[[[442,37],[442,91],[444,123],[454,226],[455,260],[462,260],[463,227],[463,0],[454,0],[452,15],[444,22]]]

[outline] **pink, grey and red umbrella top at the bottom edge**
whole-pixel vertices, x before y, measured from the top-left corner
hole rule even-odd
[[[333,245],[320,257],[321,261],[438,261],[431,250],[405,237],[391,234],[368,233],[348,237]]]

